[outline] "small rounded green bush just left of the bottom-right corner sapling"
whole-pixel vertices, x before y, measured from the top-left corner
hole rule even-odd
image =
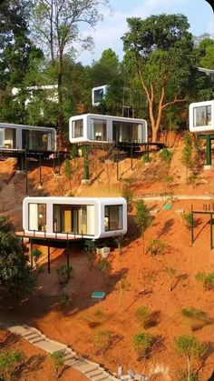
[[[154,344],[154,336],[147,332],[133,336],[133,347],[139,356],[148,358]]]

